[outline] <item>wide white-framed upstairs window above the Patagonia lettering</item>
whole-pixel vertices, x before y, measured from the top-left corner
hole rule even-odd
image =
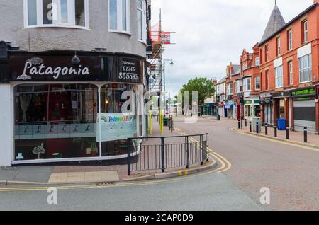
[[[24,0],[26,28],[88,28],[88,0]]]

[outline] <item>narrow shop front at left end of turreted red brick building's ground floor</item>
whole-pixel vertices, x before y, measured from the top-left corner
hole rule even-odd
[[[272,94],[262,93],[260,95],[260,105],[262,110],[262,123],[263,125],[274,125],[273,112],[272,112]]]

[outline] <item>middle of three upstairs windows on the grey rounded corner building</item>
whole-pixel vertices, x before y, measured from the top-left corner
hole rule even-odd
[[[108,28],[111,32],[130,33],[130,0],[108,0]]]

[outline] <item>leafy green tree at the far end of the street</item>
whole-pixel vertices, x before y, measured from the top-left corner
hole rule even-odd
[[[183,85],[181,88],[181,94],[184,96],[184,91],[189,91],[189,100],[191,104],[192,98],[192,91],[198,91],[198,106],[203,105],[206,98],[214,96],[215,88],[213,82],[206,77],[203,78],[195,78],[189,80],[189,82]]]

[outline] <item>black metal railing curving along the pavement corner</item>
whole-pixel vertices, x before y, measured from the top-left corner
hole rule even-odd
[[[141,137],[127,140],[128,175],[134,171],[162,171],[203,165],[209,160],[208,134]]]

